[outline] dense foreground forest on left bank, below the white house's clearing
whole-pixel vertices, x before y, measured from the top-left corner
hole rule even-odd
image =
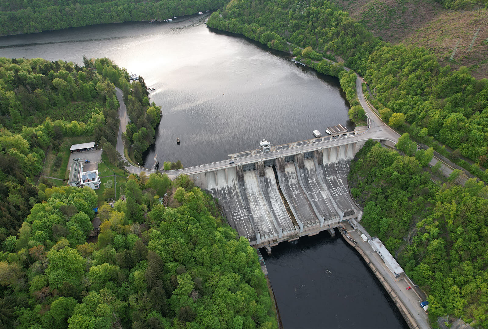
[[[256,251],[181,176],[131,175],[126,200],[40,186],[0,252],[2,328],[277,328]]]

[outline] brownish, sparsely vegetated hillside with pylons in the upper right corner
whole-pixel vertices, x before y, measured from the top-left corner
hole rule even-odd
[[[447,10],[433,0],[332,1],[385,41],[426,47],[443,66],[488,77],[487,9]]]

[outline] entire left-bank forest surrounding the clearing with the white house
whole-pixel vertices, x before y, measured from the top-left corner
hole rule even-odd
[[[125,165],[116,87],[130,149],[154,142],[161,109],[128,80],[107,58],[0,58],[0,327],[276,328],[257,253],[188,177],[130,175],[125,200],[97,213],[90,188],[36,184],[64,136],[93,136]]]

